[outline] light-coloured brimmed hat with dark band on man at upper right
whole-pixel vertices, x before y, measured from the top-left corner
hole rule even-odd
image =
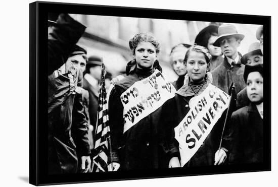
[[[214,46],[220,47],[220,41],[228,36],[234,36],[240,40],[243,40],[244,35],[239,34],[237,28],[231,24],[223,24],[218,28],[219,37],[214,42]]]

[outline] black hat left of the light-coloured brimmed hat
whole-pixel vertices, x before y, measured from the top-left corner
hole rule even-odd
[[[203,47],[207,47],[208,45],[208,40],[209,37],[212,33],[216,33],[218,32],[218,27],[217,25],[209,25],[207,27],[205,27],[204,29],[202,29],[198,35],[195,38],[195,43],[197,45],[201,45]]]

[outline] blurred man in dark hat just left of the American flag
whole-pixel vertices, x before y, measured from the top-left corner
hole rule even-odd
[[[97,55],[88,57],[86,68],[84,71],[83,88],[89,92],[89,120],[92,125],[91,138],[95,138],[94,130],[96,129],[98,106],[99,106],[99,83],[101,79],[102,59]],[[91,149],[94,148],[94,145]]]

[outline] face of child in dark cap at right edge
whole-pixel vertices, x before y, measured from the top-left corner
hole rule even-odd
[[[247,96],[251,102],[263,101],[263,77],[259,72],[251,72],[247,77]]]

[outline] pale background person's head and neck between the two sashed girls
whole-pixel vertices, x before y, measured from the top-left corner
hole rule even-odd
[[[178,75],[178,79],[172,83],[176,90],[183,85],[184,76],[187,73],[183,59],[190,46],[189,44],[181,43],[173,46],[170,52],[170,64]]]

